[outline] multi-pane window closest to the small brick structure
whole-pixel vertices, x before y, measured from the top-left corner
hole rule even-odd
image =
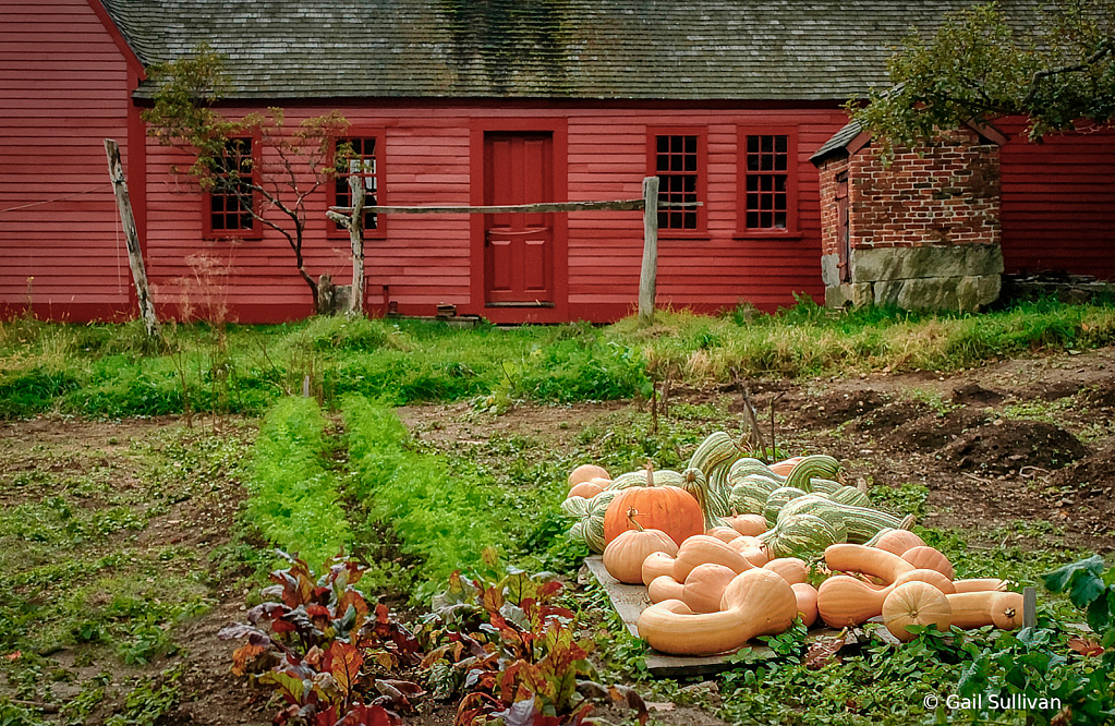
[[[789,138],[748,135],[745,149],[744,215],[748,230],[789,226]]]

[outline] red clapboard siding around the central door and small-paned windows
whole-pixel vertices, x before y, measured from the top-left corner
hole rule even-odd
[[[380,202],[395,205],[471,203],[477,170],[473,167],[469,128],[476,123],[493,128],[500,127],[500,118],[512,117],[508,128],[522,129],[524,124],[530,127],[524,116],[537,118],[540,127],[562,119],[566,128],[568,197],[574,201],[640,197],[648,163],[648,127],[704,129],[708,144],[707,234],[700,239],[671,239],[663,231],[659,301],[706,310],[747,302],[769,310],[793,304],[794,293],[816,298],[823,294],[817,175],[808,157],[845,122],[837,110],[516,110],[495,104],[456,110],[342,105],[338,110],[353,129],[386,129],[385,192]],[[288,123],[293,126],[311,113],[320,112],[288,107]],[[739,129],[772,126],[797,133],[799,235],[740,238],[736,210]],[[555,148],[555,153],[561,152]],[[263,310],[268,319],[310,312],[309,289],[298,277],[284,239],[265,230],[260,240],[234,244],[203,240],[201,195],[188,193],[188,184],[168,172],[172,165],[188,165],[187,157],[148,141],[146,158],[148,272],[164,307],[173,310],[187,290],[196,289],[190,259],[203,253],[220,260],[219,268],[227,272],[227,290],[222,294],[234,311]],[[478,178],[475,181],[478,183]],[[336,282],[347,283],[351,274],[348,241],[328,235],[327,203],[324,191],[310,200],[307,269],[314,277],[328,272]],[[474,241],[468,215],[399,214],[388,217],[386,225],[386,239],[369,240],[366,251],[368,303],[374,310],[382,309],[389,299],[405,313],[430,314],[437,303],[450,302],[460,312],[504,321],[549,319],[537,311],[485,309],[483,300],[473,299]],[[570,214],[566,317],[607,321],[627,314],[638,297],[641,255],[640,212]],[[244,317],[241,320],[248,321]]]

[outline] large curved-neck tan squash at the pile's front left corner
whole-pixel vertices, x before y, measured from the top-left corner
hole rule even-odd
[[[769,570],[735,577],[724,591],[720,612],[696,613],[681,600],[663,600],[642,611],[639,637],[651,648],[677,656],[735,650],[757,636],[785,631],[797,617],[794,590]]]

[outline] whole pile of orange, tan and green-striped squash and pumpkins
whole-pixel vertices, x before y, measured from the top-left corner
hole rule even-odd
[[[639,635],[662,652],[735,650],[798,617],[834,628],[882,618],[903,641],[911,625],[1021,626],[1021,594],[954,580],[948,558],[909,531],[912,517],[867,506],[840,468],[824,455],[767,466],[717,433],[683,472],[648,464],[611,478],[579,466],[562,509],[609,573],[647,585]],[[814,588],[807,560],[820,558],[827,578]]]

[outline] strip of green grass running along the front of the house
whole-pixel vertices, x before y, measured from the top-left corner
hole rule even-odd
[[[309,377],[330,407],[346,394],[388,404],[475,399],[505,406],[646,396],[651,379],[956,370],[1115,339],[1115,306],[1018,303],[981,316],[811,302],[773,316],[660,311],[657,323],[474,330],[413,320],[318,318],[253,327],[168,326],[153,345],[136,322],[0,323],[0,417],[263,413]]]

